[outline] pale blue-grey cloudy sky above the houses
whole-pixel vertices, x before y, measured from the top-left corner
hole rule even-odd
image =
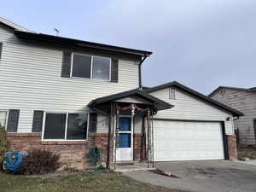
[[[256,86],[255,0],[9,0],[0,15],[36,32],[153,51],[143,85],[209,94]]]

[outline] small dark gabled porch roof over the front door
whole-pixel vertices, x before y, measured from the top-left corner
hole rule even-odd
[[[150,102],[155,110],[164,110],[164,109],[173,107],[173,105],[171,105],[167,102],[164,102],[164,101],[162,101],[162,100],[160,100],[160,99],[158,99],[154,96],[150,96],[147,93],[144,93],[143,90],[139,90],[139,89],[127,90],[125,92],[113,94],[113,95],[110,95],[110,96],[103,96],[103,97],[100,97],[100,98],[96,98],[95,100],[92,100],[88,104],[88,106],[89,107],[96,107],[97,105],[101,105],[102,103],[113,102],[113,101],[116,101],[118,99],[125,98],[127,96],[142,97],[143,99]]]

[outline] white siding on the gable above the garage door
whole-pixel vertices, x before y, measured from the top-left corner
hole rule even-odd
[[[194,96],[184,93],[182,90],[176,89],[175,100],[169,99],[169,88],[157,90],[150,94],[174,105],[171,109],[159,111],[154,115],[154,118],[225,121],[226,134],[232,135],[234,133],[233,118],[230,121],[226,121],[227,117],[232,117],[230,113],[226,113],[206,102],[202,102]]]

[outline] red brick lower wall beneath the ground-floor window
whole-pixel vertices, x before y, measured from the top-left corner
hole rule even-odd
[[[101,160],[106,162],[108,134],[90,134],[88,141],[42,142],[41,133],[8,133],[12,150],[27,151],[29,148],[48,148],[61,154],[63,164],[78,168],[88,167],[88,154],[91,146],[101,148]]]

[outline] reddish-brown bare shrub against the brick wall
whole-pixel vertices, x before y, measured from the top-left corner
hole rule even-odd
[[[32,148],[23,159],[26,174],[55,172],[61,167],[60,154],[48,149]]]

